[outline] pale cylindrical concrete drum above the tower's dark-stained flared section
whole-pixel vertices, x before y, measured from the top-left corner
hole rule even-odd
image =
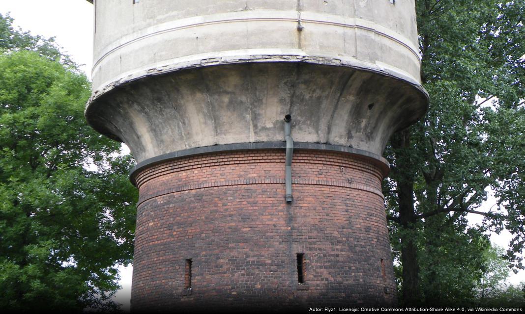
[[[322,57],[419,82],[413,1],[106,0],[95,8],[96,94],[150,71],[232,56]]]

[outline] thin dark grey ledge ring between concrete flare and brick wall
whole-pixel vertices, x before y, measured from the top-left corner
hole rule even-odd
[[[388,172],[390,172],[390,164],[385,158],[377,154],[370,153],[369,151],[366,151],[363,149],[346,147],[346,146],[341,146],[341,145],[303,143],[303,142],[295,142],[293,143],[293,145],[294,145],[294,149],[297,149],[297,150],[300,150],[300,149],[325,150],[325,151],[334,151],[334,152],[339,152],[339,153],[348,153],[352,155],[359,155],[360,157],[369,159],[372,162],[372,164],[379,167],[381,169],[383,177],[386,177],[386,175],[388,175]],[[137,186],[136,179],[137,179],[137,175],[139,174],[141,170],[154,166],[159,163],[163,163],[164,161],[169,161],[169,160],[176,159],[176,158],[189,157],[189,156],[201,155],[201,154],[209,154],[209,153],[220,153],[223,151],[226,152],[226,151],[239,151],[239,150],[279,149],[279,148],[286,149],[286,142],[224,144],[224,145],[204,146],[204,147],[188,148],[184,150],[173,151],[172,153],[162,154],[159,156],[155,156],[153,158],[146,159],[144,161],[141,161],[137,165],[135,165],[130,170],[130,180],[134,186]],[[294,181],[293,183],[296,183],[296,182]]]

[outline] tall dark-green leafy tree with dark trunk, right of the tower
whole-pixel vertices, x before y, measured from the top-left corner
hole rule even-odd
[[[487,230],[512,233],[507,258],[522,267],[524,9],[522,1],[416,1],[430,106],[392,137],[384,183],[406,304],[475,297]],[[499,204],[483,212],[489,189]],[[468,213],[484,215],[484,225],[470,227]]]

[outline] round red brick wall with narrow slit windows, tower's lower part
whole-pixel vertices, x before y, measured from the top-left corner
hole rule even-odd
[[[292,204],[284,170],[284,150],[184,157],[142,170],[132,310],[395,303],[379,167],[296,150]]]

